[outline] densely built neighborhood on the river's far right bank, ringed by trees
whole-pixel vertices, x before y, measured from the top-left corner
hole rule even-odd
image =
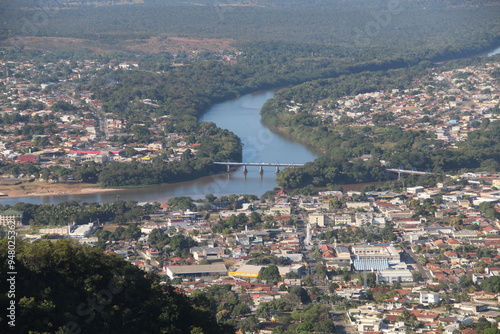
[[[498,63],[487,63],[434,72],[414,80],[413,88],[320,100],[308,112],[335,125],[390,124],[403,130],[425,130],[445,147],[454,148],[483,122],[500,118],[499,67]],[[291,113],[308,108],[295,101],[288,105]]]

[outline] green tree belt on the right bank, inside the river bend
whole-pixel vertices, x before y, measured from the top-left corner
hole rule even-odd
[[[460,63],[461,64],[461,63]],[[410,70],[361,73],[336,79],[316,80],[278,92],[262,110],[267,123],[284,129],[291,136],[314,144],[326,152],[325,156],[306,164],[303,168],[288,168],[280,173],[277,182],[285,188],[306,185],[380,181],[387,178],[376,161],[388,162],[389,167],[430,170],[441,173],[462,168],[487,168],[495,170],[500,161],[500,122],[485,124],[481,130],[469,133],[467,140],[458,143],[458,149],[446,149],[425,131],[403,131],[386,123],[390,114],[374,120],[379,125],[370,127],[318,126],[312,115],[295,116],[287,111],[290,100],[303,104],[316,103],[324,98],[336,98],[362,92],[399,88],[408,85],[412,78],[426,75],[417,67]],[[307,116],[306,119],[300,116]],[[372,161],[356,159],[371,154]],[[491,218],[494,211],[484,208]]]

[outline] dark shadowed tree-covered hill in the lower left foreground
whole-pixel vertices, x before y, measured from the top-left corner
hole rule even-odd
[[[0,296],[1,333],[233,333],[209,308],[161,285],[117,255],[68,241],[16,247],[16,327],[7,325]],[[7,239],[0,240],[0,287],[7,285]]]

